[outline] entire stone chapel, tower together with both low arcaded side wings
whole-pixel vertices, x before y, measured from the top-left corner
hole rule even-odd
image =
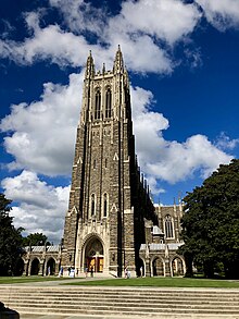
[[[113,70],[87,59],[63,245],[27,248],[24,273],[181,275],[183,205],[153,206],[135,155],[129,78],[118,48]],[[51,259],[50,259],[51,258]],[[54,265],[54,266],[53,266]],[[53,271],[52,271],[53,272]]]

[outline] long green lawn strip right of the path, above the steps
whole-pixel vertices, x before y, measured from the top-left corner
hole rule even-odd
[[[64,283],[63,283],[64,284]],[[239,289],[239,281],[210,280],[197,278],[131,278],[106,279],[96,281],[74,281],[73,285],[104,285],[104,286],[153,286],[153,287],[228,287]]]

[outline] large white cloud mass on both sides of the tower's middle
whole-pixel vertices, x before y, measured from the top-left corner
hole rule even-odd
[[[45,175],[70,175],[74,152],[75,130],[81,100],[81,74],[72,74],[68,85],[43,85],[41,100],[12,107],[0,125],[9,135],[4,146],[15,161],[10,169],[25,169]],[[200,171],[206,177],[219,163],[232,158],[223,150],[232,149],[237,142],[222,135],[213,144],[206,136],[194,135],[185,143],[166,140],[163,132],[168,120],[153,111],[150,90],[131,87],[134,133],[139,164],[150,185],[156,181],[176,183]],[[150,143],[149,143],[150,140]],[[162,192],[162,189],[161,189]]]

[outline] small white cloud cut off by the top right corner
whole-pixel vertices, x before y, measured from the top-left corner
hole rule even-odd
[[[210,23],[221,30],[239,27],[238,0],[196,0]]]

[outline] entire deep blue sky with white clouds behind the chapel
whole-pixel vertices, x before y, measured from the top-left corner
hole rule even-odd
[[[0,3],[1,192],[27,232],[62,236],[89,50],[131,83],[136,150],[155,203],[239,157],[238,0]]]

